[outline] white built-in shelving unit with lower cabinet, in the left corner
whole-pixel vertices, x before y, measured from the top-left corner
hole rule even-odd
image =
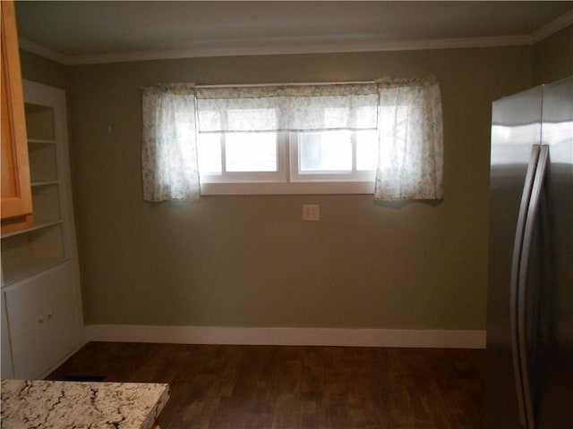
[[[65,93],[23,80],[23,94],[35,223],[2,234],[2,375],[35,379],[81,347],[83,321]]]

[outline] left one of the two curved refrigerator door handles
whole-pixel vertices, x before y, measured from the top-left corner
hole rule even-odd
[[[513,374],[517,388],[517,408],[519,410],[519,421],[523,427],[526,426],[526,399],[523,390],[524,372],[521,366],[521,357],[519,347],[519,328],[518,328],[518,301],[519,301],[519,273],[522,253],[523,253],[523,240],[526,229],[527,211],[529,208],[529,201],[531,192],[534,186],[535,171],[539,159],[540,146],[534,145],[531,149],[531,156],[529,164],[527,165],[526,181],[524,183],[523,192],[521,195],[521,203],[519,205],[519,213],[517,215],[517,229],[515,242],[513,245],[513,257],[511,259],[511,281],[509,287],[509,329],[511,336],[511,355],[513,358]]]

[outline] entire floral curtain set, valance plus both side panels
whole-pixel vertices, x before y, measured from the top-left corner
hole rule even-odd
[[[432,76],[365,84],[143,88],[144,198],[199,198],[198,132],[310,130],[378,130],[376,200],[443,198],[441,97]]]

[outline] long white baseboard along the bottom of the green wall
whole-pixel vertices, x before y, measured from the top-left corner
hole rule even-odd
[[[91,324],[86,341],[484,349],[485,331]]]

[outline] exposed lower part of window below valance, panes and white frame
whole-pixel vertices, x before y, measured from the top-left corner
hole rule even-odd
[[[372,192],[377,139],[376,130],[200,133],[201,191]]]

